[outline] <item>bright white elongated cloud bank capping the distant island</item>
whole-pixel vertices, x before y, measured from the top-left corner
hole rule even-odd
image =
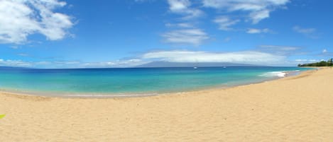
[[[171,62],[231,62],[241,64],[281,64],[285,57],[263,52],[192,52],[160,51],[143,54],[142,59],[158,59]]]

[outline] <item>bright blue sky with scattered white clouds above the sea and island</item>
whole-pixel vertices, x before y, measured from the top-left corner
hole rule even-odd
[[[333,57],[333,1],[3,0],[0,66],[296,66]]]

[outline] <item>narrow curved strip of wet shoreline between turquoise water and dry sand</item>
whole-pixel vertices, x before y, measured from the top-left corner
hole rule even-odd
[[[320,69],[320,68],[315,68]],[[206,86],[203,88],[191,89],[191,90],[175,90],[171,92],[155,92],[155,93],[48,93],[48,92],[32,92],[32,91],[25,91],[25,90],[6,90],[0,88],[0,93],[12,94],[12,95],[28,95],[28,96],[38,96],[38,97],[64,97],[64,98],[122,98],[122,97],[150,97],[156,95],[166,95],[166,94],[179,94],[179,93],[192,93],[202,90],[220,90],[226,88],[234,88],[242,85],[251,85],[251,84],[258,84],[258,83],[265,83],[267,81],[275,81],[280,80],[283,78],[290,78],[293,76],[300,76],[302,73],[307,73],[309,71],[314,70],[307,70],[307,71],[281,71],[285,73],[284,77],[274,77],[274,78],[267,78],[263,81],[254,81],[251,83],[240,83],[236,85],[214,85],[214,86]],[[291,73],[291,74],[290,74]],[[56,95],[61,94],[61,95]]]

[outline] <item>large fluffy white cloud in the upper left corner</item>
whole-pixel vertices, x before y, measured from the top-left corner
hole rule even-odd
[[[0,43],[20,44],[35,33],[61,40],[73,25],[70,16],[55,12],[65,5],[58,0],[1,0]]]

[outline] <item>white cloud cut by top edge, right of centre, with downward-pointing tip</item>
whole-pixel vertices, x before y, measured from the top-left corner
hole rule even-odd
[[[247,11],[253,24],[269,18],[271,11],[285,6],[289,0],[203,0],[205,7],[218,8],[227,12]]]

